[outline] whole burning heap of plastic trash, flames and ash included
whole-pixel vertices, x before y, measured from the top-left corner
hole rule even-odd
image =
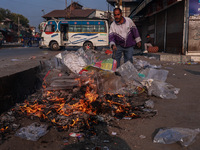
[[[102,57],[79,49],[45,62],[43,89],[1,116],[1,139],[15,132],[24,116],[86,136],[100,123],[115,126],[116,120],[156,115],[147,101],[150,95],[176,98],[179,89],[165,83],[167,70],[140,60],[116,69],[115,60]]]

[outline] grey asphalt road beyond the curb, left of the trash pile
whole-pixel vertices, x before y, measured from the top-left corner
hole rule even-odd
[[[0,49],[0,77],[9,76],[39,65],[62,51],[39,49],[38,47],[17,47]]]

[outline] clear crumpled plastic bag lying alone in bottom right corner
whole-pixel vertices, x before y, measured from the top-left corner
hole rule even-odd
[[[199,132],[199,129],[193,130],[188,128],[160,129],[154,137],[153,142],[162,144],[180,142],[182,146],[187,147],[194,142]]]

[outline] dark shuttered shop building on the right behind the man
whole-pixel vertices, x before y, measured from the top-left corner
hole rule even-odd
[[[200,54],[200,9],[191,12],[194,1],[200,7],[199,0],[144,0],[129,17],[141,25],[143,43],[148,33],[160,52],[196,55]]]

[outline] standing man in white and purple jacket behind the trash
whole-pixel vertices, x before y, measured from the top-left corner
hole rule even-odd
[[[119,67],[122,53],[124,63],[127,61],[133,63],[133,47],[136,44],[141,47],[141,38],[135,23],[130,18],[123,17],[120,8],[115,8],[113,14],[115,21],[110,26],[109,42],[113,50],[113,59],[117,61]]]

